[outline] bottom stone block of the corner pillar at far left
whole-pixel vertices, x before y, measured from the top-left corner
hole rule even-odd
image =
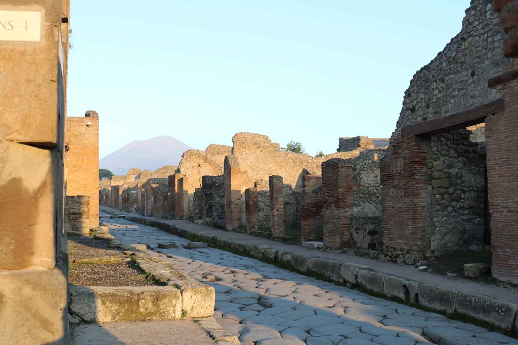
[[[67,278],[58,268],[0,272],[0,344],[67,344]]]

